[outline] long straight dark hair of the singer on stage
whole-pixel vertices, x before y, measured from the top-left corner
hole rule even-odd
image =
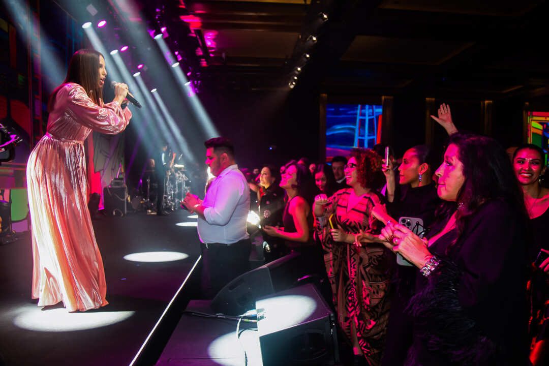
[[[49,97],[49,112],[53,110],[57,93],[66,83],[77,83],[81,85],[88,94],[88,97],[92,98],[94,103],[99,104],[99,100],[103,99],[103,88],[98,85],[99,56],[103,57],[101,53],[89,48],[79,49],[72,55],[65,81],[55,88]]]

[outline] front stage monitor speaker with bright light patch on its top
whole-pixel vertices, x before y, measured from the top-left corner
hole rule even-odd
[[[335,316],[313,284],[255,303],[264,366],[339,364]]]

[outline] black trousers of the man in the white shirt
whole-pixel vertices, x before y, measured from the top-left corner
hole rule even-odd
[[[202,271],[200,288],[202,297],[212,299],[217,292],[240,274],[249,271],[250,239],[233,244],[201,244]]]

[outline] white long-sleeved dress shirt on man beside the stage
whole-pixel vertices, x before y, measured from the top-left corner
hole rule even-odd
[[[233,244],[248,239],[250,188],[236,164],[228,166],[210,184],[202,205],[204,217],[198,218],[202,243]]]

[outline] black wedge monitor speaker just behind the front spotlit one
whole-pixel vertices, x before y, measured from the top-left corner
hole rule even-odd
[[[211,301],[218,313],[237,316],[254,308],[255,300],[295,286],[310,274],[299,253],[292,253],[239,275],[223,287]]]

